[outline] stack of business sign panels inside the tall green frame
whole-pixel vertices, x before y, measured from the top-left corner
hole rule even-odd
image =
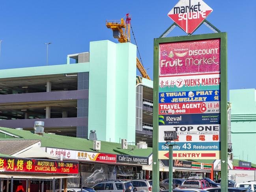
[[[171,130],[174,159],[220,158],[220,39],[159,44],[160,159],[168,158]]]

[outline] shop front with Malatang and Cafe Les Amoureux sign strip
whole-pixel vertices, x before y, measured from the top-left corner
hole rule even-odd
[[[81,181],[82,186],[92,187],[104,180],[146,179],[148,173],[142,170],[142,166],[152,161],[152,156],[138,157],[52,147],[47,147],[46,152],[56,158],[79,162],[81,179],[68,179],[70,187],[80,186]]]

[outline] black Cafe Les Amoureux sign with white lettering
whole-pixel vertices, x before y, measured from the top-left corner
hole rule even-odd
[[[117,163],[144,164],[148,165],[148,157],[135,157],[129,155],[116,155]]]

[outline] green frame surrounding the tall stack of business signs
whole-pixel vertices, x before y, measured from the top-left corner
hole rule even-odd
[[[180,37],[164,37],[154,39],[153,62],[153,192],[159,191],[159,160],[158,160],[158,101],[159,101],[159,43],[195,41],[202,39],[220,39],[220,97],[221,97],[221,191],[228,191],[228,108],[227,108],[227,33],[188,35]],[[226,129],[223,129],[223,128]],[[155,187],[154,187],[155,186]]]

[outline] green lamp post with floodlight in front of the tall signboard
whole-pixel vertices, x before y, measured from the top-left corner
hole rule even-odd
[[[171,143],[171,141],[175,141],[178,139],[176,131],[164,131],[164,141],[165,145],[169,146],[169,192],[172,192],[172,146],[176,145]]]

